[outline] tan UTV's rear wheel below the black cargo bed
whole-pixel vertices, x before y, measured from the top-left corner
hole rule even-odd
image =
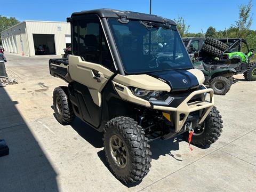
[[[62,125],[67,125],[75,118],[71,102],[68,99],[68,87],[56,87],[53,91],[54,117]]]

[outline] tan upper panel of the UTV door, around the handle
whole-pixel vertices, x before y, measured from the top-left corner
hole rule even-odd
[[[93,102],[101,106],[101,94],[103,87],[108,82],[108,79],[114,75],[112,71],[102,65],[83,61],[81,57],[70,55],[68,58],[69,75],[73,81],[81,83],[89,88]],[[94,79],[93,70],[98,71],[99,80]]]

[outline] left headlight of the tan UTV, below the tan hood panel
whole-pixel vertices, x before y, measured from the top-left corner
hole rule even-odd
[[[131,90],[135,96],[148,100],[155,105],[169,105],[170,102],[174,99],[170,97],[165,91],[145,90],[135,87],[131,87]]]

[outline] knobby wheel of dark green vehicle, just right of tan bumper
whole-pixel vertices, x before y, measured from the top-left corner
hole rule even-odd
[[[230,90],[231,83],[228,78],[218,76],[210,80],[209,86],[213,89],[214,94],[225,95]]]

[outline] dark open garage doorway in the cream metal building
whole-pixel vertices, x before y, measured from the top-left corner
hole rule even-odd
[[[33,34],[35,54],[56,54],[54,35]]]

